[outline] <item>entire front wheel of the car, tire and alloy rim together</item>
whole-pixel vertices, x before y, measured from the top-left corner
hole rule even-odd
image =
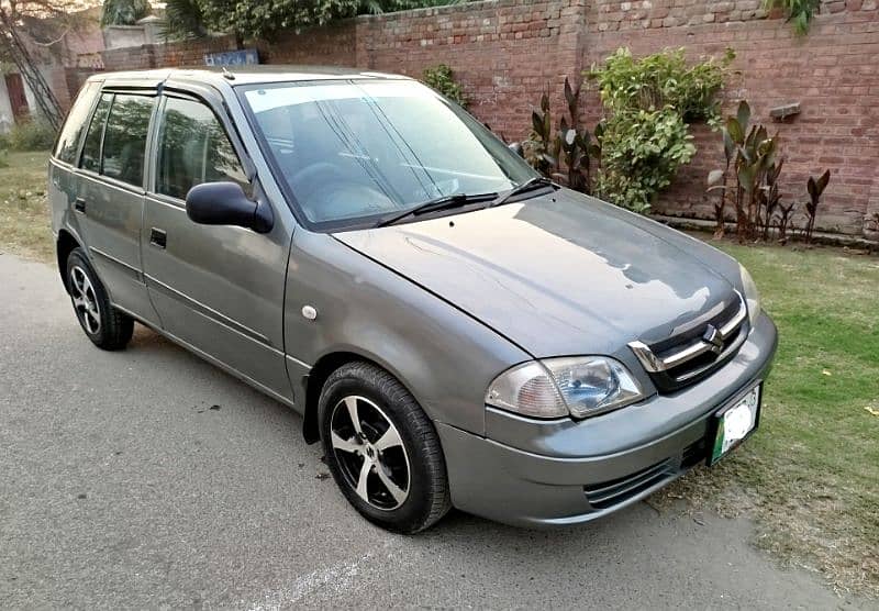
[[[411,534],[448,512],[439,438],[393,376],[368,363],[345,365],[326,380],[319,410],[330,471],[367,520]]]

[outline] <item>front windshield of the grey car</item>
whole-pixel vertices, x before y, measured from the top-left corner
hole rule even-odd
[[[476,119],[415,81],[285,82],[243,97],[276,173],[318,226],[375,223],[535,176]]]

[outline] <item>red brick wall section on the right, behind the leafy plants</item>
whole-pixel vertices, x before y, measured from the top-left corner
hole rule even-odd
[[[689,56],[737,55],[727,82],[725,110],[750,102],[755,120],[776,130],[787,157],[782,191],[787,201],[806,198],[809,175],[830,168],[832,178],[819,210],[817,225],[860,234],[865,218],[879,212],[879,11],[876,0],[824,2],[809,34],[797,37],[783,19],[767,19],[759,0],[689,2],[682,0],[590,3],[586,63],[600,62],[621,46],[635,54],[664,47],[687,48]],[[769,109],[800,102],[802,112],[783,123]],[[589,100],[588,114],[600,113]],[[705,176],[721,167],[719,134],[693,126],[699,148],[658,212],[711,218]],[[802,219],[797,219],[802,224]]]

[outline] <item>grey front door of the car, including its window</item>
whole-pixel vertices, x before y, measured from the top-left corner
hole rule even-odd
[[[218,116],[200,99],[163,97],[142,234],[146,284],[166,332],[291,400],[283,358],[289,230],[199,225],[186,213],[186,195],[201,182],[234,181],[252,195]]]

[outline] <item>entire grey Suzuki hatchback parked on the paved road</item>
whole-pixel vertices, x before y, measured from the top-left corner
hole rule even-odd
[[[743,267],[408,78],[98,75],[49,192],[97,346],[137,321],[293,408],[390,530],[586,522],[758,424],[777,334]]]

